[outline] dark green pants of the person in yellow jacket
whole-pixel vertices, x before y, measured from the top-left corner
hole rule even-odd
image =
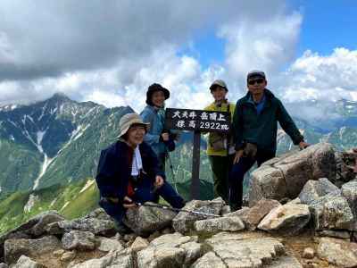
[[[228,175],[233,166],[234,155],[208,155],[213,174],[214,197],[222,197],[228,204]]]

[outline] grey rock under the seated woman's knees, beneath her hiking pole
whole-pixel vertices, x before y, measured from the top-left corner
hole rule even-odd
[[[157,205],[150,202],[145,204]],[[149,235],[155,230],[169,227],[176,215],[176,212],[170,210],[140,205],[139,207],[128,209],[123,222],[137,235]]]

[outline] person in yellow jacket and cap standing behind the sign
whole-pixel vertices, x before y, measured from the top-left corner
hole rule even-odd
[[[236,105],[228,102],[226,83],[223,80],[215,80],[210,90],[214,101],[204,110],[228,112],[233,118]],[[221,134],[220,132],[208,134],[207,155],[213,175],[214,197],[222,197],[226,202],[228,202],[228,173],[233,165],[234,154],[232,135]]]

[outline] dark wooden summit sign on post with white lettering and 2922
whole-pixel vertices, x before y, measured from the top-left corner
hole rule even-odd
[[[230,114],[228,112],[167,108],[165,129],[194,131],[190,193],[192,199],[199,199],[201,131],[228,133]]]

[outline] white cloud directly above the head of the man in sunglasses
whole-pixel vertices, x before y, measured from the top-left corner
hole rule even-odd
[[[228,40],[226,63],[231,75],[245,78],[248,71],[272,74],[289,63],[295,55],[302,15],[279,13],[270,20],[239,21],[220,29]]]

